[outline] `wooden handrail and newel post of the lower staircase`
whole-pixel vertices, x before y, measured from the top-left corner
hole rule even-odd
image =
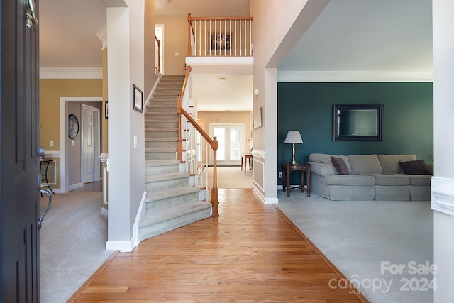
[[[187,119],[189,123],[198,131],[201,136],[209,143],[211,149],[213,150],[213,188],[211,189],[211,206],[212,206],[212,215],[219,216],[219,192],[218,192],[218,172],[217,172],[217,150],[219,148],[219,143],[216,137],[210,138],[209,134],[204,131],[203,128],[192,118],[182,108],[182,100],[184,96],[184,91],[187,87],[187,82],[189,80],[189,74],[192,71],[192,67],[189,65],[186,68],[186,75],[184,76],[184,82],[182,86],[182,92],[177,97],[177,113],[178,113],[178,144],[177,144],[177,158],[182,162],[183,150],[182,150],[182,115]]]

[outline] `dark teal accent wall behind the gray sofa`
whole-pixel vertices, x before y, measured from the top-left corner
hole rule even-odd
[[[383,104],[382,141],[333,141],[333,104]],[[278,83],[277,165],[292,160],[287,131],[298,130],[296,160],[310,153],[333,155],[415,154],[433,162],[433,83]],[[292,182],[299,175],[292,174]],[[282,179],[279,179],[282,184]]]

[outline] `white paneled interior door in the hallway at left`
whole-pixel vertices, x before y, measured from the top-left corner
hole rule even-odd
[[[82,106],[82,184],[94,182],[95,152],[94,111]]]

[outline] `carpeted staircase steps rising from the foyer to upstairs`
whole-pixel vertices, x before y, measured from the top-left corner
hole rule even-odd
[[[177,160],[177,96],[184,75],[162,75],[145,112],[146,213],[139,241],[211,216],[211,203],[189,186],[189,173]]]

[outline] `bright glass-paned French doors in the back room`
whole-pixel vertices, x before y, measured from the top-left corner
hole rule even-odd
[[[241,153],[244,153],[244,124],[210,124],[211,138],[217,137],[219,148],[217,151],[218,165],[240,165]],[[213,164],[213,155],[210,162]]]

